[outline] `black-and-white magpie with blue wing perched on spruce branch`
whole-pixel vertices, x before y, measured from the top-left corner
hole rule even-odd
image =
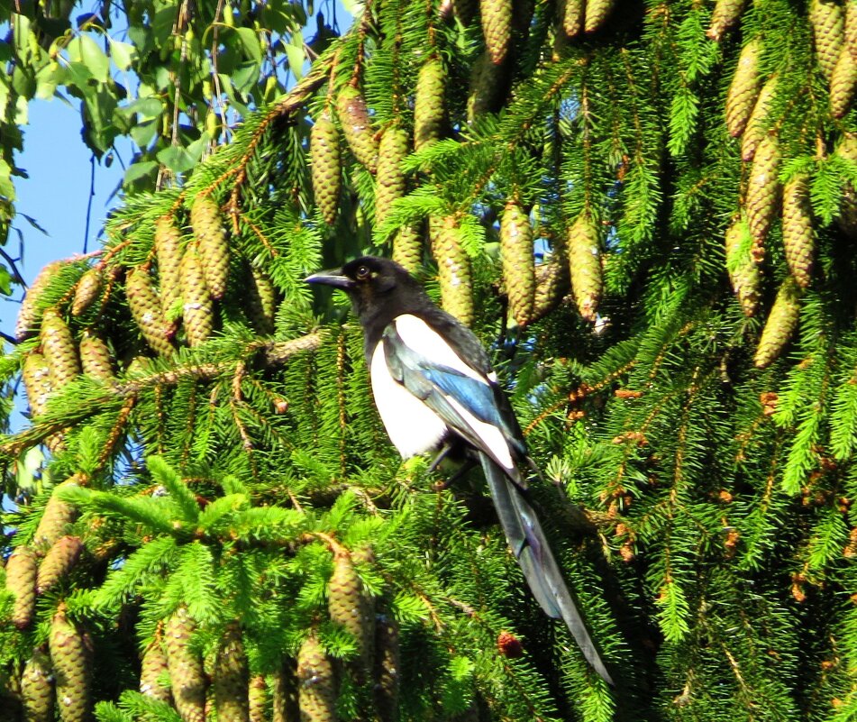
[[[548,617],[565,622],[588,663],[613,685],[527,498],[522,469],[538,468],[476,334],[393,260],[363,256],[305,282],[350,297],[378,415],[402,457],[436,452],[431,470],[445,457],[479,461],[533,597]]]

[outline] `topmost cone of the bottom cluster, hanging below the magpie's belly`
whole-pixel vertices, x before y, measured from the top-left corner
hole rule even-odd
[[[354,569],[350,554],[335,555],[327,594],[327,610],[331,619],[354,638],[362,665],[360,672],[368,671],[375,632],[375,610],[371,597],[363,589]]]

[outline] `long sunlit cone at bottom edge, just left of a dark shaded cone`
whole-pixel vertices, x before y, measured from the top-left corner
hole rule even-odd
[[[195,628],[187,608],[182,606],[169,617],[164,629],[173,699],[184,722],[205,722],[205,670],[190,642]]]

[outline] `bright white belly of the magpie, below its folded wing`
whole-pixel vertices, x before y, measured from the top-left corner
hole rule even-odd
[[[436,449],[446,433],[446,424],[432,409],[390,376],[383,340],[378,342],[372,352],[369,378],[378,414],[398,452],[407,459]]]

